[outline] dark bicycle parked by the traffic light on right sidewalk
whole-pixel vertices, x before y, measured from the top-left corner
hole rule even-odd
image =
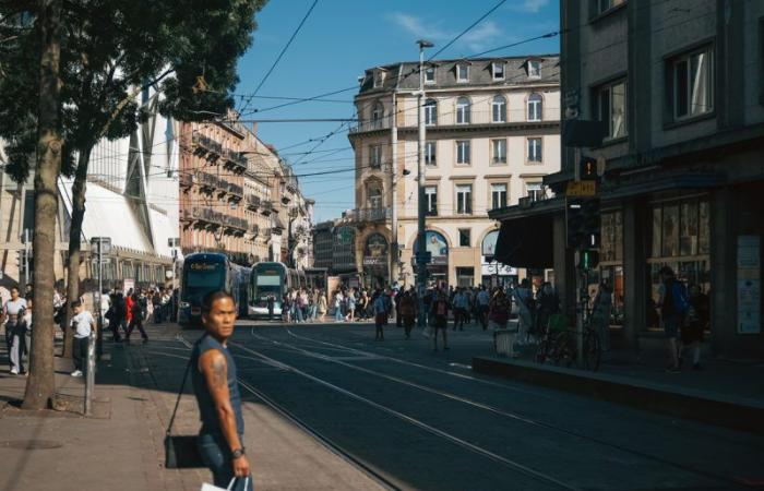
[[[577,360],[577,331],[570,328],[568,318],[554,314],[549,318],[541,342],[536,351],[536,361],[571,367]],[[601,348],[597,332],[590,322],[584,324],[583,369],[597,371],[601,359]]]

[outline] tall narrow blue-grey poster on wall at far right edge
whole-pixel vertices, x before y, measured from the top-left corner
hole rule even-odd
[[[738,236],[738,334],[761,333],[761,238]]]

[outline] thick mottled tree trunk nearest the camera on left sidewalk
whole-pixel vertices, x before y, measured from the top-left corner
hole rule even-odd
[[[29,378],[24,409],[51,407],[56,391],[53,368],[53,254],[61,171],[60,33],[61,0],[40,0],[38,28],[43,40],[39,70],[37,165],[35,168],[35,328],[32,331]]]

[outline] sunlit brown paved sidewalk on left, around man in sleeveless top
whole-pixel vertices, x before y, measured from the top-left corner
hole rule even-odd
[[[96,376],[94,417],[81,416],[83,379],[56,358],[56,384],[65,410],[24,411],[17,400],[26,379],[9,375],[0,347],[0,489],[193,490],[211,481],[206,469],[165,469],[164,433],[187,352],[174,342],[178,327],[152,325],[147,345],[104,342]],[[108,336],[107,336],[108,337]],[[172,349],[176,350],[172,350]],[[151,351],[178,354],[168,362]],[[188,391],[187,391],[188,392]],[[259,490],[380,487],[314,439],[259,402],[244,404],[247,447]],[[198,431],[195,400],[184,395],[176,434]]]

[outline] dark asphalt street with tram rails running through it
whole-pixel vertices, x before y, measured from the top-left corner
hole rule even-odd
[[[762,439],[474,374],[475,326],[432,350],[390,326],[242,321],[229,342],[244,392],[387,482],[423,490],[764,488]],[[178,350],[183,339],[156,340]],[[174,360],[178,362],[178,360]],[[288,463],[284,463],[288,466]]]

